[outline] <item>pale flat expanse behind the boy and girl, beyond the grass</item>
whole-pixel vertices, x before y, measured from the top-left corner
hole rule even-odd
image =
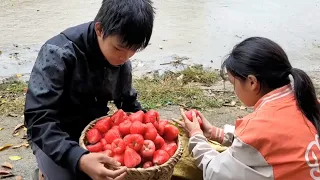
[[[28,76],[41,45],[94,19],[101,0],[0,0],[0,77]],[[293,66],[320,71],[320,0],[154,0],[151,45],[133,58],[134,74],[184,64],[219,68],[250,36],[279,43]]]

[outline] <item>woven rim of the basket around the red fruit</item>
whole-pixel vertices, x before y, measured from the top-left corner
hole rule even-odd
[[[127,113],[127,112],[126,112]],[[111,117],[112,115],[106,115],[106,116],[101,116],[99,118],[96,118],[95,120],[91,121],[81,132],[81,135],[80,135],[80,138],[79,138],[79,146],[85,150],[88,150],[84,144],[84,138],[85,138],[85,134],[86,132],[93,127],[93,125],[103,119],[103,118],[106,118],[106,117]],[[168,121],[170,124],[172,124],[171,121]],[[138,167],[138,168],[127,168],[127,171],[155,171],[155,170],[158,170],[159,168],[161,167],[166,167],[166,166],[169,166],[170,164],[177,164],[177,162],[179,161],[179,159],[181,158],[182,154],[183,154],[183,147],[182,147],[182,143],[181,143],[181,135],[179,134],[178,135],[178,138],[177,138],[177,145],[178,145],[178,148],[176,150],[176,152],[174,153],[173,156],[170,157],[170,159],[165,162],[164,164],[161,164],[161,165],[154,165],[154,166],[151,166],[149,168],[141,168],[141,167]],[[177,161],[175,162],[175,159],[177,159]]]

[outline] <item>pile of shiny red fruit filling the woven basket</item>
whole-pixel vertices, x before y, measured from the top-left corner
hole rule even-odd
[[[127,115],[118,110],[87,131],[86,146],[90,152],[105,153],[128,168],[148,168],[167,162],[178,149],[179,129],[160,120],[150,110]]]

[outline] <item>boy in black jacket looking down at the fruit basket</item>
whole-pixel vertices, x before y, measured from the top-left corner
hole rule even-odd
[[[128,59],[147,47],[153,21],[151,0],[103,0],[93,22],[68,28],[41,47],[24,115],[45,179],[124,178],[125,168],[105,168],[119,164],[82,149],[78,139],[90,121],[108,113],[108,101],[127,112],[142,109]]]

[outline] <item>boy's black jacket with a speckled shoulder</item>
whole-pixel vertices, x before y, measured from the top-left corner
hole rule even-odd
[[[81,131],[108,113],[108,101],[127,112],[141,109],[132,88],[130,61],[112,66],[98,46],[94,23],[66,29],[40,49],[25,103],[25,125],[32,143],[58,165],[78,174],[87,153]]]

